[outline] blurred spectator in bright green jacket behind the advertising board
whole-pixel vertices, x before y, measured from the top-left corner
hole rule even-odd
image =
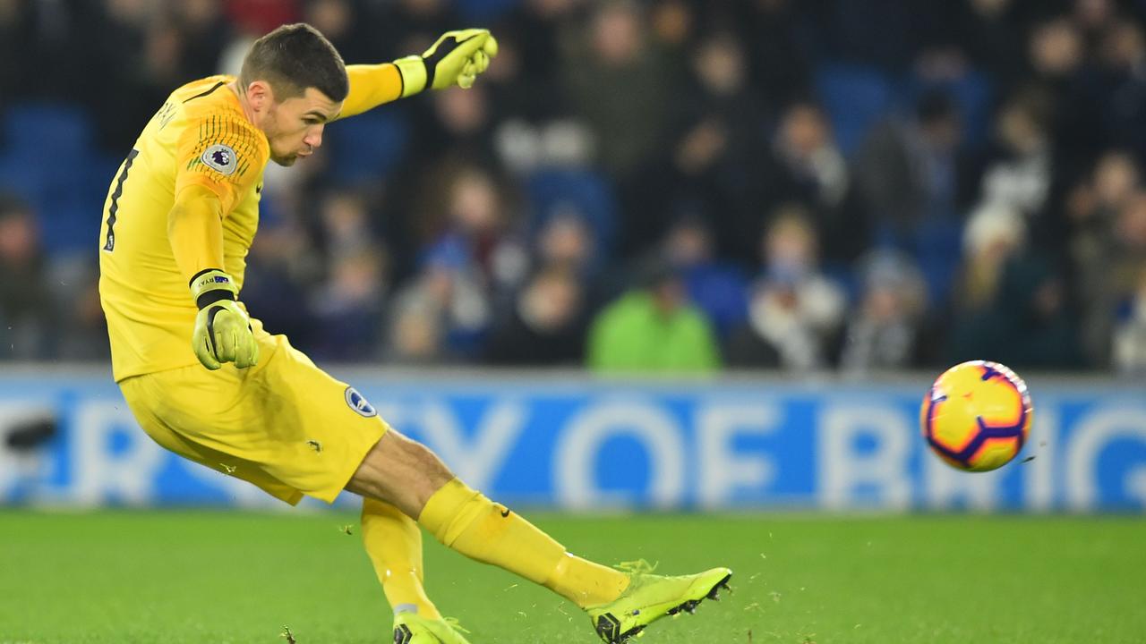
[[[712,325],[688,303],[675,270],[659,264],[645,272],[642,282],[594,320],[589,368],[601,374],[706,374],[720,369]]]

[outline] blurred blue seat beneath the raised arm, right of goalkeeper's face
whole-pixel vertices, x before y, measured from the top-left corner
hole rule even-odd
[[[374,110],[331,124],[325,131],[330,172],[340,181],[378,180],[402,158],[409,127],[401,109]]]

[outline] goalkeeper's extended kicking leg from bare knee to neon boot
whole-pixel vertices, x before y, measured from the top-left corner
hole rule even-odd
[[[623,642],[667,614],[691,612],[731,576],[727,568],[681,578],[630,575],[576,557],[517,512],[454,478],[432,451],[393,430],[346,487],[417,517],[448,548],[570,599],[589,613],[598,635],[610,643]]]

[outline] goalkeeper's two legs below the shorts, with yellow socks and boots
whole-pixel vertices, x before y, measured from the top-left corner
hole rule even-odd
[[[692,612],[700,600],[715,598],[720,588],[727,588],[731,576],[727,568],[676,578],[621,572],[576,557],[516,512],[469,488],[432,451],[395,431],[378,441],[346,488],[384,502],[363,506],[363,535],[386,596],[398,610],[397,642],[465,639],[425,599],[421,541],[415,551],[416,531],[410,531],[411,525],[403,527],[401,519],[386,510],[387,504],[407,517],[417,517],[418,524],[448,548],[570,599],[589,614],[594,629],[610,643],[625,642],[662,616]],[[379,537],[371,545],[371,533],[379,528],[379,534],[393,537]],[[388,552],[392,547],[397,555]],[[387,586],[393,579],[399,581]]]

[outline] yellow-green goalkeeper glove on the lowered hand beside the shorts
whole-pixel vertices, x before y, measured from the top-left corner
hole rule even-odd
[[[235,298],[235,281],[222,270],[209,268],[191,277],[191,297],[199,307],[191,333],[191,350],[212,371],[223,362],[245,369],[259,362],[251,319]]]

